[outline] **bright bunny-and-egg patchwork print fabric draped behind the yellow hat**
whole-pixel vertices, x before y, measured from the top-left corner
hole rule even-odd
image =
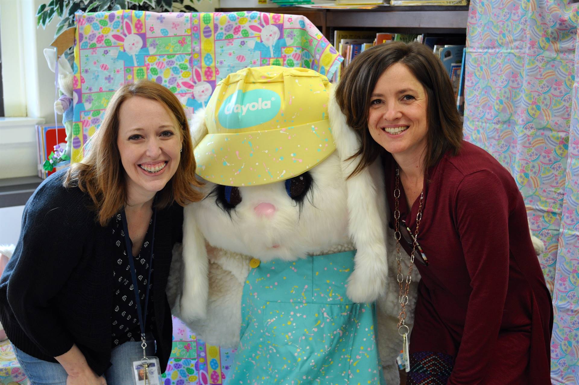
[[[156,81],[195,112],[207,105],[221,79],[242,68],[304,67],[331,78],[343,61],[303,16],[118,10],[76,14],[76,27],[75,162],[125,82]]]

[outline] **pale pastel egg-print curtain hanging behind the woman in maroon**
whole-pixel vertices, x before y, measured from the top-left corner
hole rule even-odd
[[[577,4],[472,0],[464,134],[521,189],[554,303],[551,379],[579,383]]]

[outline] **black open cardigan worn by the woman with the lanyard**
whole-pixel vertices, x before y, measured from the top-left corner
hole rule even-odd
[[[0,278],[0,319],[24,353],[57,362],[76,343],[102,375],[111,365],[114,241],[96,221],[89,196],[63,187],[64,173],[43,181],[24,208],[20,239]],[[157,210],[153,334],[162,372],[173,334],[165,288],[182,223],[181,206]]]

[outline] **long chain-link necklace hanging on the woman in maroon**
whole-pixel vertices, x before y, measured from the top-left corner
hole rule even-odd
[[[412,281],[412,266],[414,265],[414,256],[416,255],[416,247],[418,245],[418,227],[422,219],[422,203],[424,202],[424,190],[420,192],[420,204],[418,206],[418,213],[416,213],[416,230],[414,231],[414,242],[412,244],[412,253],[410,255],[410,266],[408,267],[408,274],[404,278],[402,274],[402,253],[400,252],[400,209],[398,208],[400,198],[400,175],[398,168],[396,168],[396,187],[394,189],[394,239],[396,240],[396,261],[398,262],[398,275],[396,280],[400,290],[398,291],[398,302],[400,302],[400,314],[398,315],[398,334],[402,337],[402,359],[404,361],[406,372],[410,371],[410,357],[408,353],[408,333],[410,328],[405,324],[406,318],[406,304],[408,304],[408,290],[410,289],[410,282]],[[404,285],[404,283],[406,285]]]

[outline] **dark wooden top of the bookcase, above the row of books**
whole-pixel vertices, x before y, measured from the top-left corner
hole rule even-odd
[[[247,8],[218,8],[239,12]],[[319,9],[302,7],[252,8],[259,12],[307,17],[332,41],[331,28],[376,28],[385,32],[466,34],[468,6],[380,6],[376,9]]]

